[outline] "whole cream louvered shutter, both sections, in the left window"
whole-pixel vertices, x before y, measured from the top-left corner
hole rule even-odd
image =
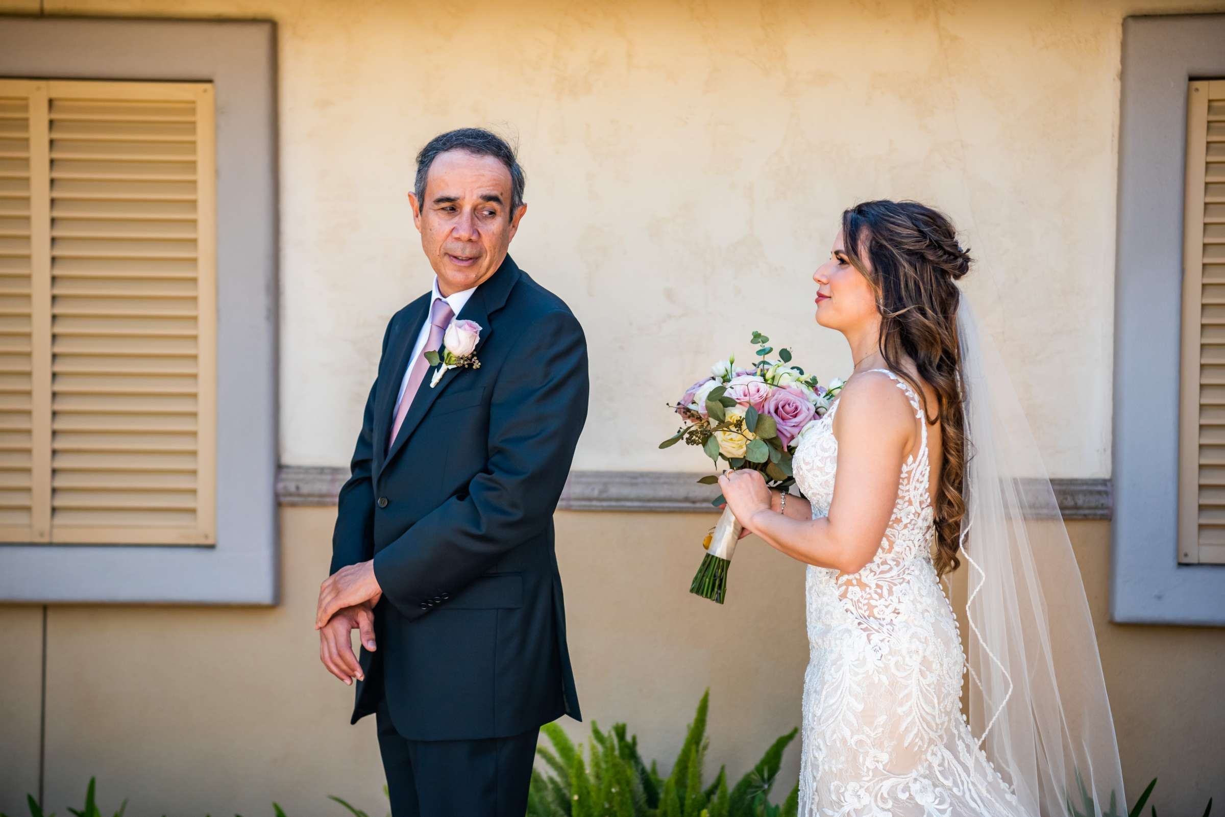
[[[212,544],[212,87],[0,81],[0,537]]]

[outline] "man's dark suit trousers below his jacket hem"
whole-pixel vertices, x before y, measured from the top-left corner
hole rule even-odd
[[[485,740],[407,740],[375,712],[392,817],[523,817],[538,729]]]

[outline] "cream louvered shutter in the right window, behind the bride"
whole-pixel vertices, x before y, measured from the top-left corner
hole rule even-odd
[[[1225,563],[1225,81],[1192,82],[1183,208],[1178,561]]]

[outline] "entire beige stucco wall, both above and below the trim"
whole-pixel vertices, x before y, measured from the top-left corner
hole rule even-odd
[[[522,144],[516,258],[592,345],[577,467],[702,467],[654,450],[671,431],[660,404],[714,356],[746,353],[752,329],[844,374],[840,338],[811,323],[809,275],[842,207],[889,196],[965,229],[980,258],[967,286],[1029,389],[1052,473],[1105,477],[1121,21],[1225,1],[533,0],[458,18],[424,1],[0,0],[40,7],[278,23],[288,465],[345,464],[385,322],[429,285],[404,198],[413,153],[483,124]],[[272,609],[48,610],[50,806],[77,805],[97,774],[134,815],[267,813],[273,799],[332,813],[328,793],[383,813],[372,724],[347,725],[309,623],[333,517],[284,510]],[[725,608],[691,598],[709,522],[561,514],[559,549],[588,717],[628,720],[668,762],[709,684],[710,762],[740,771],[799,723],[802,570],[748,548]],[[1200,813],[1225,795],[1225,630],[1107,624],[1109,526],[1072,527],[1132,796],[1159,775],[1163,813]],[[9,813],[38,784],[42,623],[0,608]],[[796,763],[793,750],[786,778]]]

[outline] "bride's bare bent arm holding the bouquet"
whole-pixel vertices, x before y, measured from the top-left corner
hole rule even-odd
[[[828,516],[779,514],[774,492],[756,471],[722,476],[723,495],[746,528],[793,559],[859,572],[876,555],[893,515],[903,455],[916,434],[909,408],[884,374],[865,373],[846,383],[833,421],[838,472]]]

